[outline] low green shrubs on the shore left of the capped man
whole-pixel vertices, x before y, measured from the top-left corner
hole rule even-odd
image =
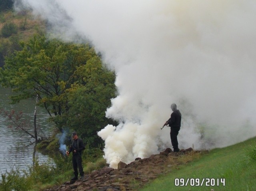
[[[26,191],[41,190],[42,185],[62,183],[71,175],[71,158],[56,155],[55,165],[52,162],[39,163],[38,158],[33,159],[34,165],[28,170],[20,171],[18,168],[2,174],[0,178],[0,191]],[[60,181],[60,182],[59,182]]]

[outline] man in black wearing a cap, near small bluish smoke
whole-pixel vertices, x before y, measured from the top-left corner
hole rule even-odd
[[[80,173],[80,179],[84,177],[84,170],[82,167],[82,151],[85,149],[84,143],[82,139],[78,139],[78,136],[76,132],[72,133],[72,144],[69,147],[69,151],[67,151],[67,155],[72,152],[72,165],[74,169],[74,177],[72,180],[77,180],[78,179],[78,170]],[[78,168],[78,170],[77,170]]]

